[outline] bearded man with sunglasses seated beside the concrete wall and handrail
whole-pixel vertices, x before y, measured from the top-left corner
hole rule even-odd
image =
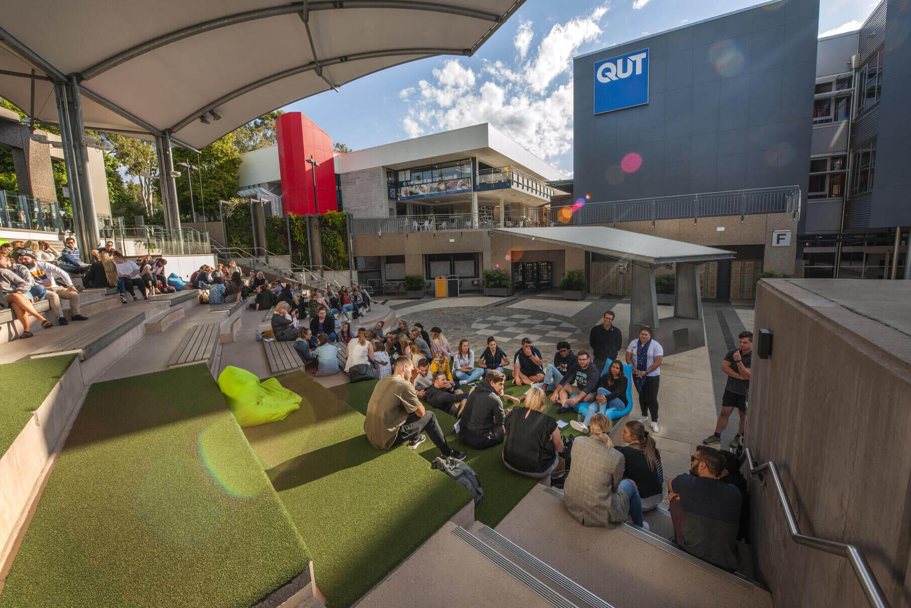
[[[740,564],[742,495],[721,479],[725,466],[717,449],[699,446],[690,457],[690,472],[668,481],[668,500],[674,542],[683,551],[734,572]]]

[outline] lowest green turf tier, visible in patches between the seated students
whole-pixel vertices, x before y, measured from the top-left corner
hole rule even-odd
[[[370,395],[374,391],[376,382],[376,380],[371,380],[344,384],[335,386],[332,390],[336,396],[350,404],[351,407],[361,413],[366,413],[367,403],[370,401]],[[527,390],[527,386],[513,386],[512,380],[507,380],[507,395],[519,396]],[[507,407],[512,406],[507,404]],[[518,504],[518,501],[522,500],[535,487],[539,479],[519,475],[504,467],[502,443],[487,449],[469,448],[453,432],[455,418],[435,407],[430,407],[430,409],[436,415],[436,419],[439,420],[449,445],[468,453],[466,463],[474,469],[477,479],[481,482],[481,488],[484,489],[484,500],[475,505],[475,519],[486,523],[491,528],[495,527]],[[547,413],[558,420],[569,421],[576,417],[575,412],[558,414],[557,406],[549,402],[549,396]],[[561,429],[560,432],[563,435],[568,435],[569,433],[578,435],[576,431],[569,427]],[[425,441],[416,451],[428,460],[433,460],[440,455],[440,450],[430,440]]]

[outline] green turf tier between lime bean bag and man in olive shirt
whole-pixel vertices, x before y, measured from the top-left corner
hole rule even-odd
[[[295,372],[279,380],[303,398],[301,408],[243,431],[312,551],[316,584],[329,608],[345,608],[471,494],[407,446],[373,448],[363,415],[311,377]]]

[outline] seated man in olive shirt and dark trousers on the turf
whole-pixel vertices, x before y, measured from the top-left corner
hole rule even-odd
[[[367,404],[367,417],[363,420],[367,440],[377,449],[393,448],[405,441],[409,448],[416,449],[427,438],[421,431],[426,431],[443,452],[443,458],[466,459],[465,452],[449,447],[436,416],[417,398],[416,376],[411,359],[399,356],[395,359],[392,375],[380,378],[376,383]]]

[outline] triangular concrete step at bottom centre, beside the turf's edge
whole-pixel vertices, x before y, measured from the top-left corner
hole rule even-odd
[[[393,605],[398,608],[575,608],[577,604],[494,551],[465,528],[447,521],[398,568],[365,593],[354,607]]]

